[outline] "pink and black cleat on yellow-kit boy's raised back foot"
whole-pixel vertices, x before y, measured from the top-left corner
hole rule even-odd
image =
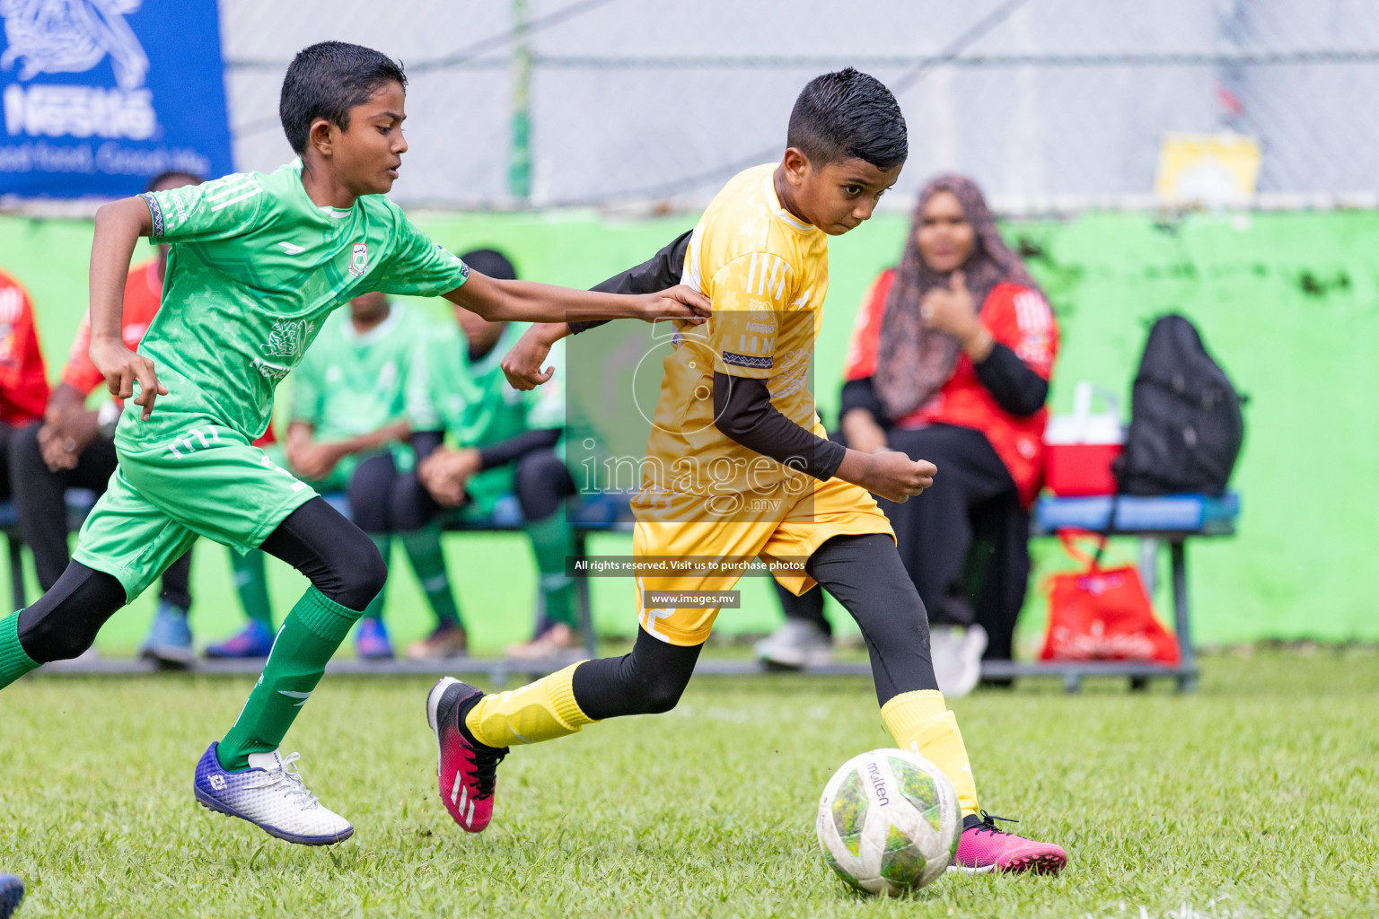
[[[488,747],[474,740],[461,722],[483,693],[469,683],[444,677],[426,696],[426,722],[436,732],[436,780],[440,799],[455,823],[469,832],[481,832],[494,816],[494,787],[498,763],[506,747]],[[469,704],[466,704],[469,703]]]

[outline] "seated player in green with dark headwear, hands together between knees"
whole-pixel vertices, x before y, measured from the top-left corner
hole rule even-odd
[[[512,262],[492,249],[461,258],[488,277],[517,277]],[[376,514],[408,539],[422,528],[437,528],[447,508],[491,517],[498,502],[516,492],[541,573],[545,627],[512,650],[546,656],[578,643],[574,584],[565,576],[575,540],[561,513],[574,482],[556,452],[564,400],[554,380],[532,393],[507,384],[501,361],[525,325],[487,322],[461,307],[455,318],[455,327],[433,336],[408,395],[416,471],[397,470],[387,456],[368,460],[350,488],[350,506],[361,526],[365,513],[370,519]],[[383,495],[392,496],[390,503],[376,507]],[[439,645],[433,637],[408,654],[434,657],[443,650]]]

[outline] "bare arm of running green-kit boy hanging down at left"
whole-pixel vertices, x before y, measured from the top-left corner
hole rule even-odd
[[[103,204],[95,212],[95,238],[91,241],[91,362],[105,376],[110,395],[127,400],[139,383],[135,405],[143,408],[142,420],[153,413],[153,401],[167,395],[159,383],[153,361],[124,346],[124,280],[141,236],[153,231],[149,205],[142,198],[123,198]]]

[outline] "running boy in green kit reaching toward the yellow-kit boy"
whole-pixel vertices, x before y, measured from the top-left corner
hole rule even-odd
[[[0,620],[0,688],[74,657],[197,536],[262,547],[312,587],[283,621],[239,719],[197,763],[197,799],[290,842],[338,842],[353,827],[321,806],[283,736],[327,660],[382,590],[374,543],[306,482],[251,446],[273,390],[321,322],[370,291],[445,296],[495,320],[702,320],[709,302],[676,288],[616,296],[495,281],[432,242],[385,196],[407,152],[405,76],[390,58],[325,41],[301,51],[279,113],[299,158],[97,211],[91,360],[120,419],[120,467],[81,529],[73,562],[36,603]],[[138,353],[120,303],[141,236],[171,242],[163,307]],[[157,409],[157,411],[154,411]]]

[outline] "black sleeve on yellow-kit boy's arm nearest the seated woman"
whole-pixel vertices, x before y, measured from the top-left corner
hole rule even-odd
[[[765,380],[713,375],[714,427],[749,451],[818,479],[833,478],[847,448],[800,427],[771,404]]]

